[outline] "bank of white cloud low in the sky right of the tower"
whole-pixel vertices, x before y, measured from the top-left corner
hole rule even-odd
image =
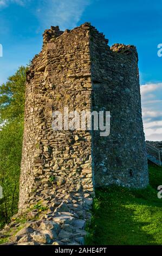
[[[162,141],[162,83],[142,85],[141,101],[146,139]]]

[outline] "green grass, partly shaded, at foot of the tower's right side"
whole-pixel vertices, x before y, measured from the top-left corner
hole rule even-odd
[[[87,245],[162,245],[162,168],[149,164],[144,190],[111,186],[96,190]]]

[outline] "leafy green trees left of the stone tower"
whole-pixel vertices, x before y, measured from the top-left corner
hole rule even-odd
[[[22,154],[25,74],[23,66],[0,87],[0,228],[17,211]]]

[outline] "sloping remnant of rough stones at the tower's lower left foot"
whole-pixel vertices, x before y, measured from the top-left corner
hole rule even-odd
[[[15,215],[0,231],[0,238],[9,237],[4,245],[83,245],[86,222],[91,219],[92,196],[93,192],[57,191],[54,199],[42,203],[48,210],[40,215],[38,209]],[[28,219],[24,224],[17,221],[22,216]]]

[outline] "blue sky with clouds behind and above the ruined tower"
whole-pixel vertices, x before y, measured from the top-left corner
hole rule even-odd
[[[0,0],[0,84],[40,52],[44,29],[91,22],[109,45],[137,46],[146,139],[162,141],[161,18],[162,0]]]

